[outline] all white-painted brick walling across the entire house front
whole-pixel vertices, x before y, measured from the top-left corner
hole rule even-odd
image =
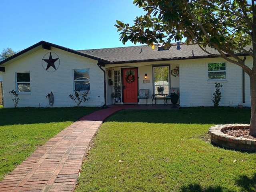
[[[73,70],[74,69],[90,69],[90,99],[82,104],[82,106],[102,106],[104,104],[104,79],[103,71],[98,67],[96,60],[92,60],[83,56],[72,54],[64,50],[52,48],[51,52],[58,54],[60,58],[60,66],[55,72],[47,72],[42,67],[42,58],[49,50],[41,49],[29,56],[26,56],[16,62],[5,67],[2,72],[3,91],[4,91],[4,107],[13,107],[12,98],[8,93],[15,87],[16,72],[30,72],[31,92],[28,95],[19,95],[20,102],[17,107],[49,107],[46,95],[51,91],[54,94],[54,107],[75,106],[75,103],[68,97],[73,93]],[[221,58],[210,59],[193,59],[193,60],[176,60],[167,62],[148,62],[132,64],[138,66],[139,89],[148,88],[150,90],[149,103],[152,95],[152,65],[170,64],[171,69],[176,65],[180,67],[180,77],[171,79],[171,87],[179,85],[180,87],[180,106],[213,106],[212,94],[215,91],[214,81],[207,80],[207,64],[208,62],[226,62]],[[246,65],[252,66],[252,58],[246,59]],[[129,65],[127,65],[129,66]],[[122,65],[106,65],[106,68],[121,70]],[[105,68],[104,68],[105,69]],[[250,106],[250,82],[248,75],[245,74],[245,103],[242,103],[242,68],[227,62],[227,80],[219,81],[223,87],[221,88],[222,98],[220,106]],[[143,84],[144,74],[148,74],[149,84]],[[112,104],[111,93],[113,86],[108,85],[108,79],[113,80],[114,74],[108,78],[106,74],[107,104]],[[141,101],[145,104],[146,100]],[[158,102],[162,104],[162,101]]]

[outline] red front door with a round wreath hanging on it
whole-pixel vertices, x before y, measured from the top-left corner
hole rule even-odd
[[[138,103],[138,68],[123,68],[124,103]]]

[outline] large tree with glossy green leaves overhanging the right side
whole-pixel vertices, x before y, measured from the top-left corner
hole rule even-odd
[[[214,48],[218,56],[236,64],[250,77],[250,135],[256,136],[256,7],[254,0],[134,0],[146,14],[136,17],[134,25],[117,20],[120,41],[128,40],[154,46],[172,42],[198,44],[206,53]],[[250,49],[248,48],[250,46]],[[253,58],[252,68],[245,65]]]

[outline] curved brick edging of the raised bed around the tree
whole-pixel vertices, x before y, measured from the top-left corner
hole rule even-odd
[[[211,126],[208,133],[211,136],[211,143],[220,147],[256,152],[256,139],[235,137],[222,132],[227,129],[249,129],[250,124],[223,124]]]

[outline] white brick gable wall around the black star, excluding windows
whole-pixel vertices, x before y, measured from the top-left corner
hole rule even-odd
[[[42,67],[42,58],[50,50],[39,50],[5,67],[3,73],[4,107],[13,107],[12,98],[8,93],[16,90],[15,73],[30,72],[31,92],[19,95],[17,107],[49,107],[46,95],[54,94],[54,107],[75,106],[68,95],[73,94],[73,70],[90,69],[90,99],[81,106],[102,106],[104,104],[104,79],[103,71],[97,66],[98,61],[83,56],[72,54],[64,50],[52,48],[60,58],[60,66],[54,72],[47,72]],[[99,96],[99,97],[98,97]]]

